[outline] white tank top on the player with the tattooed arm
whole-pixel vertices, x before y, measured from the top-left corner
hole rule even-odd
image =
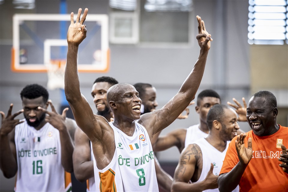
[[[214,165],[213,167],[213,174],[219,176],[221,167],[223,165],[223,161],[229,146],[229,143],[226,144],[226,149],[223,152],[218,151],[214,146],[212,146],[205,138],[201,138],[194,142],[196,145],[198,145],[202,152],[202,160],[203,160],[203,166],[202,166],[202,172],[197,182],[203,181],[207,173],[210,170],[211,163]],[[219,189],[207,189],[204,191],[219,191]],[[237,186],[233,191],[239,191],[239,186]]]

